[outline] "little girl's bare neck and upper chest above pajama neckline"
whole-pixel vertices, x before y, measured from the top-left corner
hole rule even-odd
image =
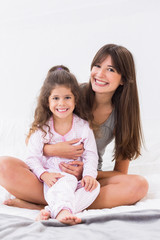
[[[73,114],[66,118],[58,118],[53,116],[53,121],[54,130],[60,135],[65,135],[72,128]]]

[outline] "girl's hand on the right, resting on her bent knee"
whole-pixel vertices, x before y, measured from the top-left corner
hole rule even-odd
[[[98,186],[98,182],[95,178],[91,176],[85,176],[81,180],[81,185],[85,188],[87,192],[92,192]]]

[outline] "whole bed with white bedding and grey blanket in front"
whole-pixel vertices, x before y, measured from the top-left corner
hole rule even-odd
[[[160,238],[160,127],[159,121],[143,121],[145,148],[142,156],[131,162],[130,174],[140,174],[149,182],[145,198],[131,206],[85,210],[82,223],[66,226],[54,219],[36,222],[38,210],[9,207],[4,200],[14,198],[0,186],[0,239],[159,239]],[[25,119],[0,120],[0,155],[25,158]],[[113,142],[107,147],[104,170],[113,167]]]

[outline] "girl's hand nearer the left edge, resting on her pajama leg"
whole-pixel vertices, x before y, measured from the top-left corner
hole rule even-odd
[[[44,172],[41,174],[41,180],[45,182],[48,187],[52,187],[59,178],[63,177],[64,175],[60,173],[49,173],[49,172]]]

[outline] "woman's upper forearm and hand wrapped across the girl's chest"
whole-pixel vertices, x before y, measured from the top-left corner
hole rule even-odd
[[[81,157],[84,152],[83,143],[77,144],[81,139],[74,139],[66,142],[59,142],[56,144],[45,144],[43,153],[45,156],[58,156],[61,158],[74,159]]]

